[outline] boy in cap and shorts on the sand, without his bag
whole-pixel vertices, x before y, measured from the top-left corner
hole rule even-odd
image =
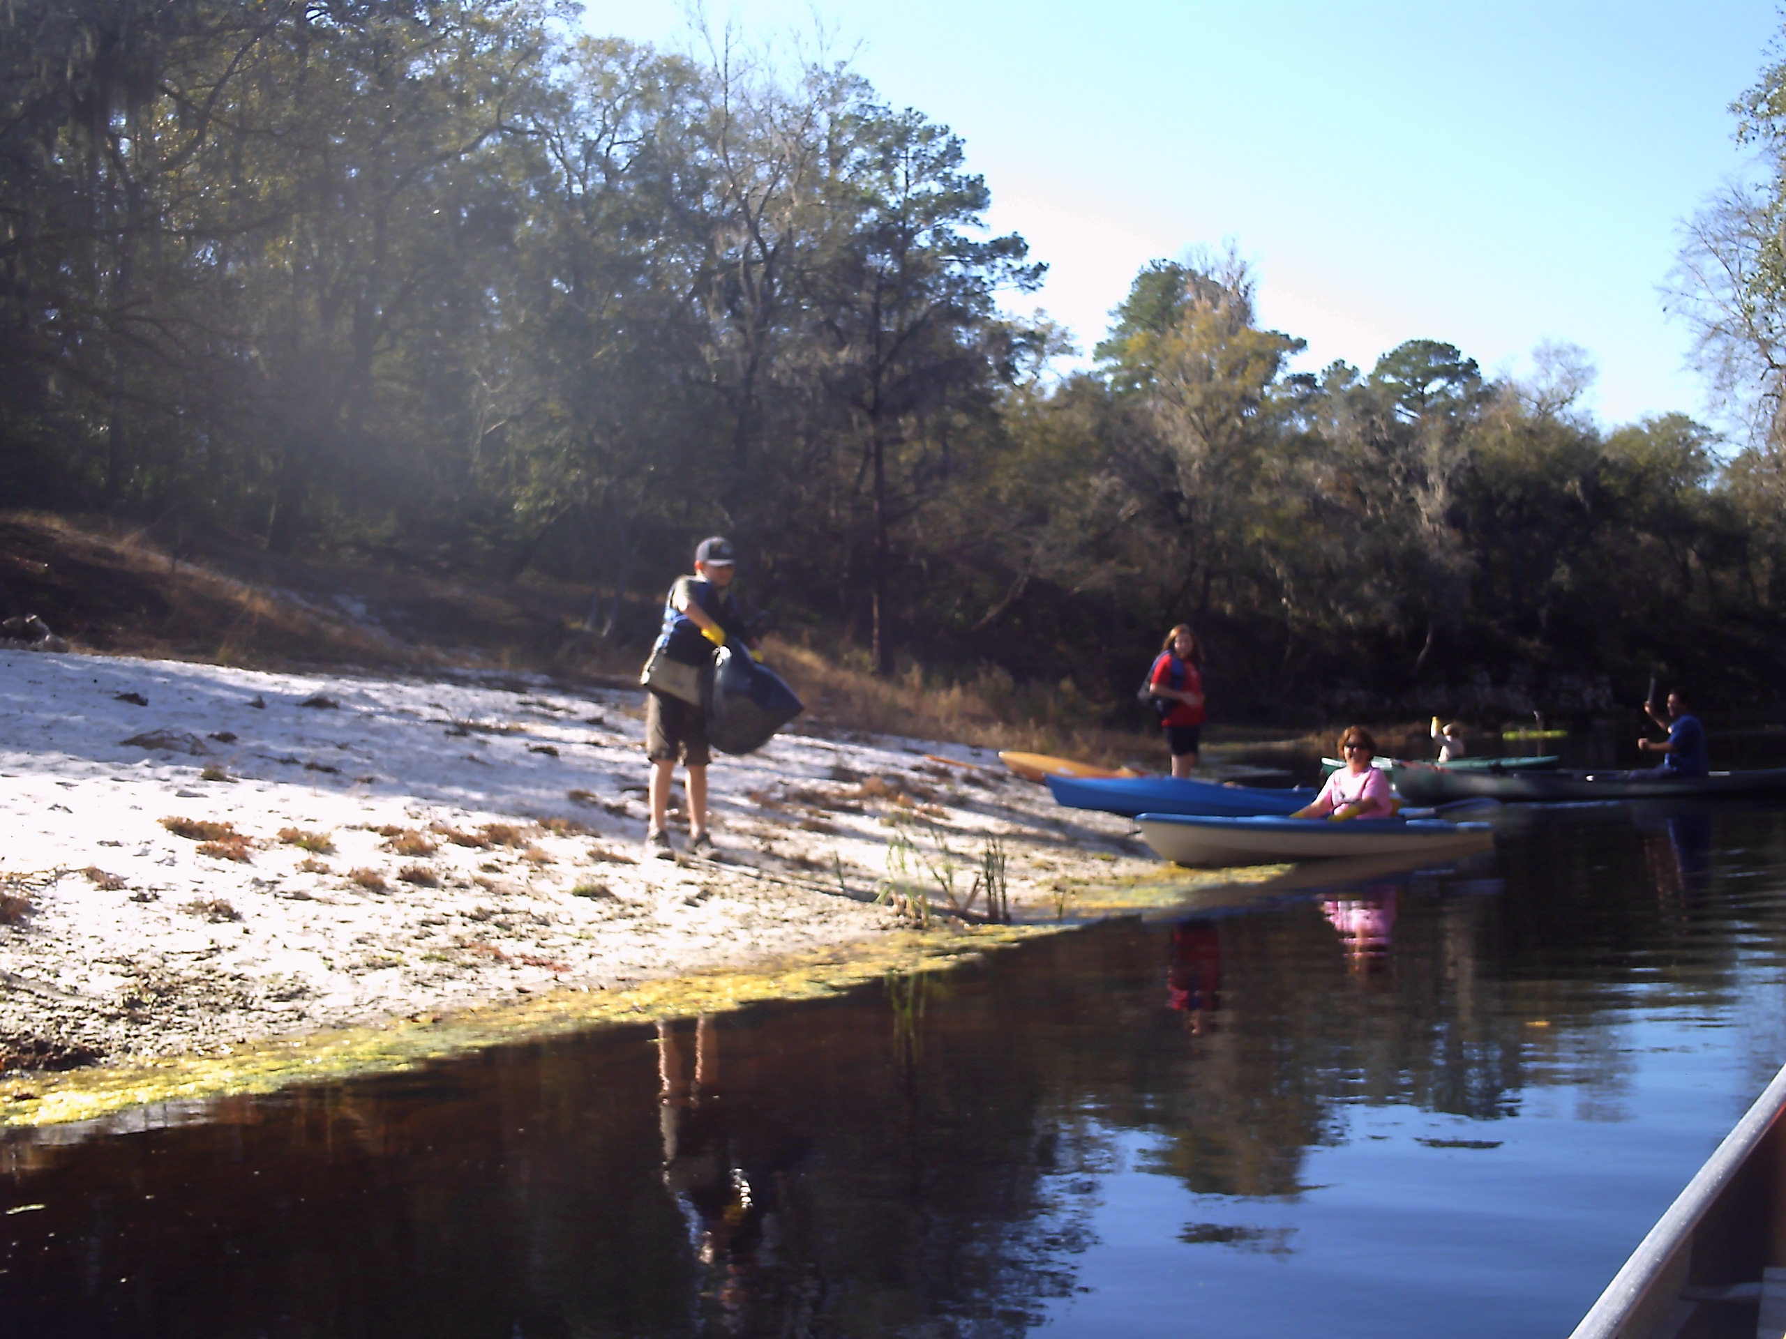
[[[664,600],[664,625],[639,682],[645,684],[645,755],[652,762],[647,859],[673,861],[664,821],[677,761],[688,768],[688,853],[713,855],[707,836],[707,677],[713,655],[730,641],[748,645],[745,616],[727,589],[736,575],[729,539],[702,539],[695,575],[679,577]]]

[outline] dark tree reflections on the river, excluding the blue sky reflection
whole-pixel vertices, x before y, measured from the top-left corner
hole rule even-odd
[[[1732,846],[1777,859],[1777,816],[1720,821],[1743,841],[1668,914],[1629,821],[1538,828],[1504,894],[1309,891],[716,1018],[705,1043],[609,1030],[14,1143],[13,1202],[45,1209],[5,1219],[0,1307],[43,1334],[1014,1335],[1073,1287],[1123,1132],[1195,1193],[1257,1198],[1295,1196],[1357,1103],[1495,1119],[1568,1084],[1616,1114],[1606,1019],[1634,982],[1729,998],[1729,927],[1781,928],[1777,898],[1716,882]],[[1368,898],[1393,923],[1334,911]],[[1390,936],[1375,966],[1361,934]]]

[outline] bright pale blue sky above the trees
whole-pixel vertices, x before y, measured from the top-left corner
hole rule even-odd
[[[1727,104],[1770,4],[945,4],[718,0],[747,37],[855,50],[889,102],[950,125],[991,223],[1050,264],[1034,300],[1084,348],[1136,270],[1232,239],[1300,361],[1447,339],[1522,373],[1543,339],[1600,370],[1607,423],[1704,414],[1657,295],[1677,225],[1743,159]],[[675,0],[586,25],[686,45]]]

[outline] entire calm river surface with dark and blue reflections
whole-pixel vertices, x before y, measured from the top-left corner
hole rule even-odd
[[[1561,1335],[1786,1059],[1786,809],[0,1146],[18,1335]]]

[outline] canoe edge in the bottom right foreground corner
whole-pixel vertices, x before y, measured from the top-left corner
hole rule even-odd
[[[1786,1068],[1638,1243],[1570,1339],[1786,1330],[1782,1110]],[[1757,1303],[1766,1325],[1750,1328],[1732,1314]],[[1716,1319],[1727,1323],[1706,1328]]]

